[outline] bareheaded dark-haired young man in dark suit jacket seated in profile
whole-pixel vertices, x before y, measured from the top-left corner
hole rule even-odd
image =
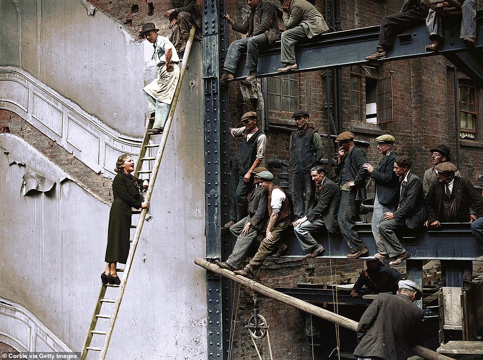
[[[390,258],[395,258],[389,265],[401,264],[410,255],[402,246],[395,230],[416,229],[424,224],[423,185],[418,176],[410,171],[412,161],[407,156],[398,156],[394,160],[394,172],[401,179],[398,209],[384,213],[384,220],[379,224],[379,233]]]

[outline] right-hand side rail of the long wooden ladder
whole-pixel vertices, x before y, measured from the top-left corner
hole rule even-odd
[[[185,73],[185,70],[186,70],[186,63],[187,63],[187,60],[188,60],[188,57],[189,57],[189,53],[191,52],[191,45],[192,45],[192,42],[193,42],[193,39],[194,39],[194,34],[195,34],[195,27],[192,26],[191,31],[189,33],[188,41],[186,43],[186,50],[185,50],[185,53],[184,53],[184,56],[183,56],[183,63],[181,65],[181,71],[180,71],[180,79],[179,79],[178,84],[176,86],[176,90],[175,90],[175,93],[174,93],[174,96],[173,96],[173,100],[171,102],[171,108],[170,108],[170,111],[169,111],[168,119],[166,120],[166,124],[165,124],[165,127],[164,127],[164,131],[163,131],[163,135],[162,135],[161,143],[160,143],[160,148],[158,149],[158,154],[156,156],[156,162],[155,162],[155,165],[154,165],[154,168],[153,168],[152,177],[150,178],[148,191],[146,192],[146,198],[145,198],[146,202],[150,201],[151,195],[153,193],[153,187],[154,187],[154,184],[156,182],[156,177],[158,175],[158,170],[159,170],[159,166],[160,166],[160,163],[161,163],[161,158],[163,157],[164,149],[166,147],[169,129],[171,128],[171,123],[173,121],[174,112],[175,112],[175,109],[176,109],[176,104],[178,103],[178,97],[179,97],[179,94],[181,92],[181,85],[182,85],[182,82],[183,82],[184,73]],[[173,106],[173,104],[174,104],[174,106]],[[140,160],[138,159],[138,162],[139,161]],[[141,231],[143,230],[143,225],[144,225],[144,222],[146,220],[147,212],[148,212],[148,209],[143,209],[141,211],[138,226],[136,228],[136,233],[135,233],[134,238],[133,238],[133,243],[131,244],[132,246],[131,246],[131,250],[130,250],[130,253],[129,253],[129,256],[128,256],[128,260],[126,262],[126,266],[125,266],[125,270],[124,270],[124,276],[123,276],[123,279],[120,282],[119,290],[117,292],[117,297],[116,297],[116,302],[114,304],[114,310],[112,312],[112,317],[110,318],[109,325],[107,327],[106,335],[105,335],[105,338],[104,338],[104,343],[102,345],[102,350],[99,354],[99,360],[104,360],[105,356],[107,354],[107,348],[109,347],[109,342],[110,342],[110,339],[112,337],[112,330],[114,328],[114,324],[115,324],[115,321],[117,319],[117,314],[119,313],[120,303],[123,300],[124,291],[126,290],[126,283],[128,281],[128,278],[129,278],[131,265],[132,265],[132,262],[133,262],[134,255],[136,253],[136,248],[137,248],[137,245],[138,245],[139,238],[141,236]]]

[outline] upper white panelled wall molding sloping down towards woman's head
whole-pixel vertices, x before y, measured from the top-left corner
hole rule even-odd
[[[136,157],[142,139],[120,134],[16,67],[0,67],[0,108],[22,116],[92,170],[112,178],[117,157]]]

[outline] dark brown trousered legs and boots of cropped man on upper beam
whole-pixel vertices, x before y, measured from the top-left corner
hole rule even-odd
[[[367,56],[366,60],[385,59],[387,51],[393,47],[396,35],[426,19],[428,11],[429,8],[421,0],[405,0],[400,12],[383,18],[376,52]]]

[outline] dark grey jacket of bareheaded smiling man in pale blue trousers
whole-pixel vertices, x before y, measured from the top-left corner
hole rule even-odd
[[[313,222],[322,217],[325,227],[330,232],[337,231],[337,211],[340,202],[340,189],[331,179],[325,178],[322,182],[317,205],[306,215],[307,220]]]

